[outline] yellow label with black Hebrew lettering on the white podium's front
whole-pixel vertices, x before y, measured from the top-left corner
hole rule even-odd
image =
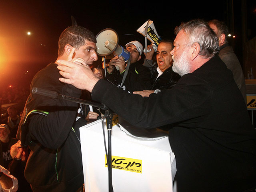
[[[105,167],[108,167],[106,155]],[[142,160],[112,156],[112,168],[142,173]]]

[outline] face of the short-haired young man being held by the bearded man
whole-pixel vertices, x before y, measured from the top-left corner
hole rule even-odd
[[[75,50],[74,57],[83,58],[87,65],[91,65],[92,62],[98,60],[96,54],[96,44],[94,42],[85,41],[85,44]]]

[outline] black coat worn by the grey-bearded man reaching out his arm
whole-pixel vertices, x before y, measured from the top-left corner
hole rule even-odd
[[[256,131],[232,72],[218,56],[148,98],[102,80],[92,98],[133,125],[173,125],[169,139],[179,192],[239,192],[256,186]]]

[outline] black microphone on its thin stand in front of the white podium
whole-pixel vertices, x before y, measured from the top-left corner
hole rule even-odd
[[[107,164],[108,164],[108,192],[113,192],[112,187],[112,147],[111,147],[111,132],[112,132],[112,118],[113,114],[108,109],[108,107],[105,104],[100,104],[97,102],[87,101],[79,98],[74,98],[70,96],[66,96],[63,94],[58,94],[54,91],[45,90],[42,88],[34,87],[32,88],[33,94],[39,94],[51,98],[58,98],[58,99],[64,99],[70,102],[75,102],[79,104],[85,104],[85,105],[91,105],[97,108],[100,108],[102,110],[105,110],[106,115],[106,121],[107,121],[107,131],[108,131],[108,154],[107,154]]]

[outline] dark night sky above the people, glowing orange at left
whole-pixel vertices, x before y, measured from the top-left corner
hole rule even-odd
[[[58,52],[58,37],[72,25],[78,25],[95,35],[104,28],[114,29],[119,44],[131,40],[144,44],[144,37],[136,30],[148,19],[161,38],[174,38],[174,28],[181,22],[200,18],[227,19],[225,0],[185,3],[184,1],[99,1],[85,0],[2,0],[0,2],[0,88],[9,84],[30,81],[34,74],[50,62]],[[248,1],[248,38],[256,36],[256,1]],[[234,2],[236,43],[241,40],[241,3]],[[26,32],[31,32],[28,36]],[[150,43],[148,41],[148,43]],[[28,72],[27,72],[28,71]],[[25,84],[25,83],[24,83]]]

